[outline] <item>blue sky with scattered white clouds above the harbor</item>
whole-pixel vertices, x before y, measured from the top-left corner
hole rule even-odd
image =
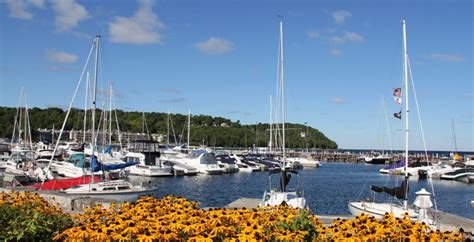
[[[393,148],[404,147],[391,90],[401,82],[401,20],[430,150],[474,151],[473,3],[456,1],[2,0],[0,105],[66,107],[96,33],[99,86],[125,110],[268,122],[277,15],[284,16],[289,122],[341,148],[379,148],[385,97]],[[83,106],[83,91],[75,106]],[[412,97],[411,97],[412,98]],[[413,101],[413,98],[412,98]],[[414,102],[412,102],[414,104]],[[422,149],[412,106],[411,149]],[[388,143],[387,141],[385,143]],[[386,145],[388,147],[388,145]]]

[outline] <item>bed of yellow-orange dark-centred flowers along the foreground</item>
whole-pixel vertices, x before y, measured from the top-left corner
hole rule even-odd
[[[287,206],[257,209],[197,208],[198,203],[167,196],[143,197],[135,203],[96,206],[75,217],[77,226],[54,240],[462,240],[461,232],[433,231],[429,226],[386,215],[336,219],[324,226],[308,210]]]

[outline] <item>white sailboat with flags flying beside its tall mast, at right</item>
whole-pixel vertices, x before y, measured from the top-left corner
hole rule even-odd
[[[349,202],[348,207],[351,214],[354,216],[366,213],[376,218],[382,218],[386,213],[390,213],[397,218],[403,218],[408,216],[412,220],[423,221],[428,224],[433,224],[436,219],[428,216],[428,209],[430,209],[433,204],[430,199],[430,193],[425,189],[416,192],[416,199],[413,207],[408,206],[408,141],[409,141],[409,105],[408,105],[408,52],[406,45],[406,25],[405,20],[402,21],[403,29],[403,62],[404,62],[404,81],[405,81],[405,93],[404,93],[404,102],[405,102],[405,163],[404,163],[404,172],[405,179],[402,181],[401,185],[394,188],[389,187],[378,187],[371,186],[373,195],[375,193],[384,192],[389,194],[394,198],[398,203],[386,202],[379,203],[375,201],[375,197],[369,198],[366,201],[357,201]],[[402,202],[400,202],[400,200]]]

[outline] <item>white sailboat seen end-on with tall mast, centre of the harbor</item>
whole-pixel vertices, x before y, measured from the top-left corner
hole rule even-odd
[[[265,191],[260,206],[278,206],[286,204],[293,208],[306,208],[306,199],[303,196],[303,191],[300,188],[298,180],[298,172],[294,170],[288,170],[286,166],[286,151],[285,151],[285,92],[284,92],[284,62],[283,62],[283,19],[280,19],[280,46],[279,46],[279,67],[277,78],[280,88],[278,89],[281,95],[281,120],[282,120],[282,136],[281,136],[281,147],[282,147],[282,164],[281,170],[274,170],[270,172],[269,179],[269,191]],[[272,175],[280,174],[279,186],[272,187]],[[289,189],[287,187],[290,182],[291,174],[296,176],[296,188]]]

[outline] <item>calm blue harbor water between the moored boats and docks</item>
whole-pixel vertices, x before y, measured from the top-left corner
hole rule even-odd
[[[349,214],[347,203],[370,195],[370,185],[398,186],[403,177],[379,174],[381,166],[365,164],[323,163],[318,169],[300,170],[300,183],[311,210],[316,214]],[[262,198],[268,190],[268,172],[198,175],[168,178],[134,178],[150,181],[159,187],[157,198],[168,194],[199,201],[203,207],[222,207],[240,197]],[[277,184],[274,177],[274,185]],[[292,179],[290,186],[294,185]],[[455,181],[433,180],[438,209],[474,219],[474,185]],[[429,181],[410,180],[409,197],[425,188],[431,192]],[[387,196],[377,196],[378,201]]]

